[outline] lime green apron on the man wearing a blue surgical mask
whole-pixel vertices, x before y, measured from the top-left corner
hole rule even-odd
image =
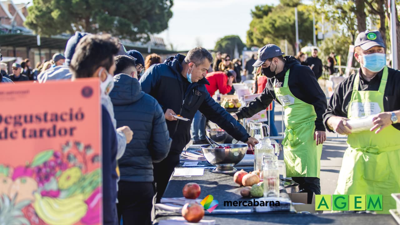
[[[378,91],[359,91],[360,75],[354,78],[348,118],[356,119],[384,111],[383,98],[388,68],[383,70]],[[383,195],[383,211],[389,213],[396,203],[391,193],[400,192],[400,131],[393,126],[380,133],[362,131],[348,135],[336,195]]]

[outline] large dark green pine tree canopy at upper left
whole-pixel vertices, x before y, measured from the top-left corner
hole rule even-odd
[[[173,0],[33,0],[25,25],[37,34],[106,32],[131,40],[148,39],[168,27]]]

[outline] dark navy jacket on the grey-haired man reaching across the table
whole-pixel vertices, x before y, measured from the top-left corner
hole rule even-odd
[[[183,93],[181,63],[184,58],[184,55],[178,54],[162,64],[154,64],[140,78],[142,90],[156,98],[164,112],[170,108],[176,114],[190,119],[190,121],[166,121],[172,137],[170,154],[180,154],[189,143],[190,124],[197,110],[227,131],[234,139],[248,141],[250,135],[246,133],[246,129],[211,98],[204,85],[210,85],[206,78],[189,84]]]

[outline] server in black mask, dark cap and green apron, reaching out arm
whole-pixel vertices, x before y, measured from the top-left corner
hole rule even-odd
[[[293,56],[274,44],[267,44],[258,52],[254,67],[262,67],[268,82],[262,94],[232,116],[250,118],[276,100],[285,110],[284,161],[286,176],[300,184],[302,192],[320,194],[320,159],[322,143],[326,140],[322,115],[326,110],[326,96],[314,73],[302,66]]]

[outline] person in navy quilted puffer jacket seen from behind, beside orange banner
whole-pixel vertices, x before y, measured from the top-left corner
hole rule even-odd
[[[153,163],[168,155],[172,139],[169,137],[164,112],[157,100],[145,94],[136,75],[135,60],[130,56],[116,56],[115,85],[110,93],[117,126],[127,125],[135,138],[126,145],[118,164],[118,221],[126,224],[151,224],[154,187]],[[129,74],[129,75],[127,75]]]

